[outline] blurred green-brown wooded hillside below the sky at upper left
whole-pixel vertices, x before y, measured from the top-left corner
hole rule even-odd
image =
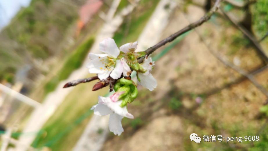
[[[78,17],[78,7],[59,1],[32,0],[22,8],[0,33],[0,80],[15,74],[33,59],[46,59],[59,54],[66,30]],[[4,60],[7,60],[5,62]],[[14,69],[12,71],[7,69]],[[8,80],[11,80],[8,78]]]

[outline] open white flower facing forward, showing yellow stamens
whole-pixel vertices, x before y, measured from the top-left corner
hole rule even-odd
[[[124,76],[129,76],[131,70],[127,63],[116,59],[120,54],[120,50],[113,39],[106,38],[100,42],[100,51],[105,54],[89,53],[89,58],[91,59],[87,65],[89,73],[98,74],[100,80],[109,76],[113,79],[118,79],[122,73]]]

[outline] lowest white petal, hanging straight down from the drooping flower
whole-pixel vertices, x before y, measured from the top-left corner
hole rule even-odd
[[[122,127],[121,121],[123,119],[123,116],[120,116],[116,113],[111,113],[110,119],[109,119],[109,129],[111,132],[113,132],[115,135],[121,135],[122,132],[124,132],[124,129]]]

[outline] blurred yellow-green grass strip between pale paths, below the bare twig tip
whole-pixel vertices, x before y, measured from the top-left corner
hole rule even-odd
[[[91,118],[90,108],[97,103],[98,95],[103,96],[108,92],[108,88],[91,91],[94,84],[80,84],[66,96],[42,128],[43,133],[36,137],[33,147],[47,146],[56,151],[71,150],[74,147]]]

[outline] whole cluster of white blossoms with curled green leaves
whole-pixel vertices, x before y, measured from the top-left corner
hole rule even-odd
[[[138,95],[137,84],[148,88],[150,91],[157,87],[157,81],[150,73],[154,61],[146,56],[142,63],[138,59],[145,56],[144,51],[137,51],[138,42],[127,43],[117,47],[114,39],[107,38],[100,42],[102,54],[89,53],[91,61],[87,64],[89,73],[95,73],[100,80],[108,77],[116,80],[114,94],[109,97],[98,97],[98,104],[91,109],[98,116],[110,114],[109,129],[115,135],[120,135],[124,130],[121,124],[123,117],[134,118],[127,111],[127,104],[134,101]],[[136,71],[136,80],[129,77]]]

